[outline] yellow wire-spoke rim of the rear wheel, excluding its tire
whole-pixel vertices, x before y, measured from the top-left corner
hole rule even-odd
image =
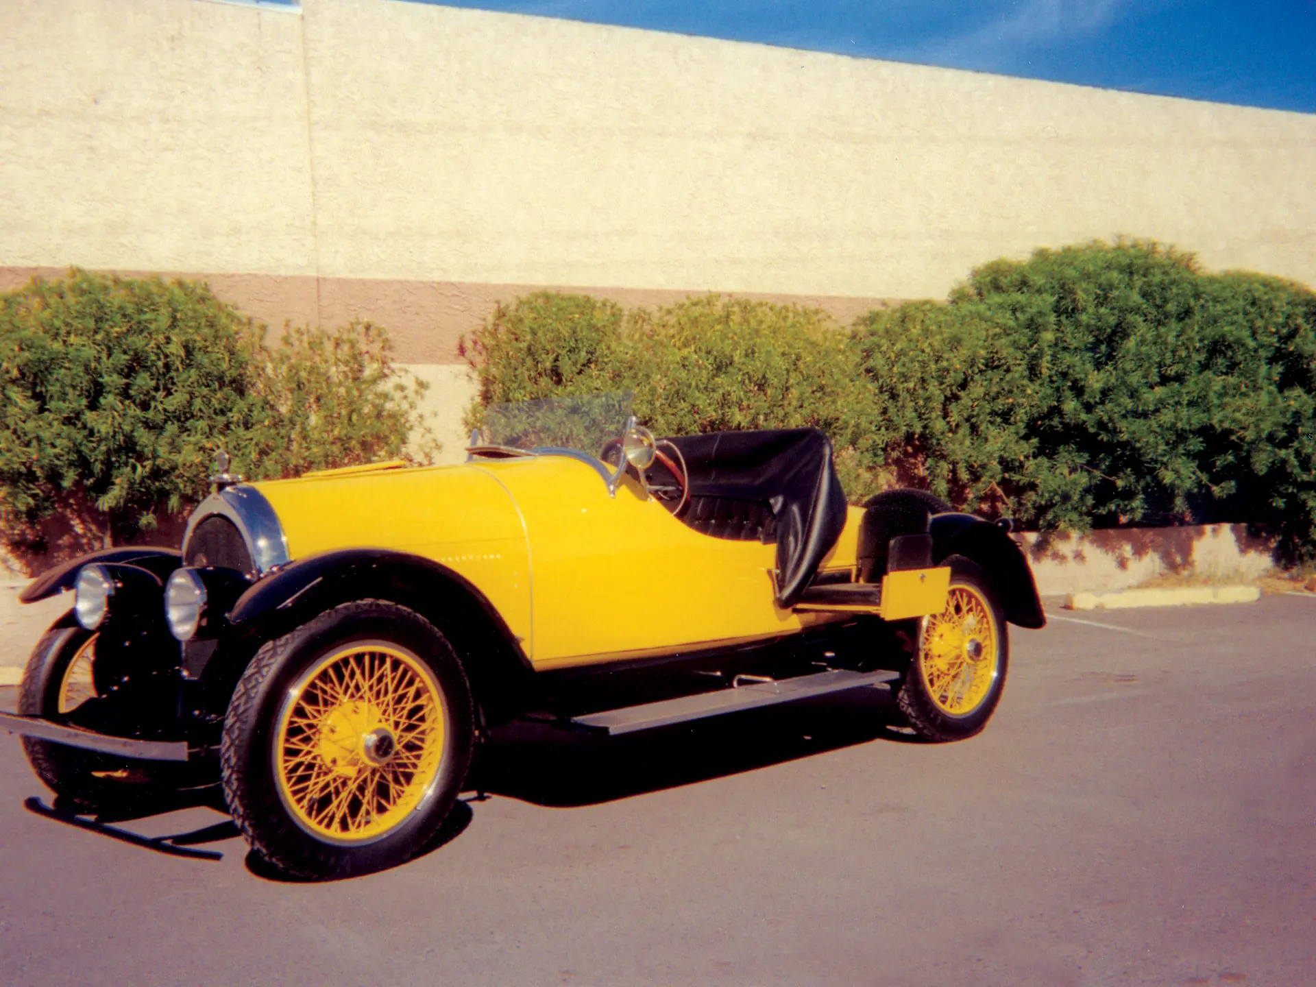
[[[996,619],[982,592],[950,587],[946,608],[928,617],[919,674],[938,712],[971,716],[987,700],[999,671]]]

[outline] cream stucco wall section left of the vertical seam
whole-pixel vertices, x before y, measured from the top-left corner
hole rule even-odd
[[[301,17],[0,4],[0,265],[313,274]]]

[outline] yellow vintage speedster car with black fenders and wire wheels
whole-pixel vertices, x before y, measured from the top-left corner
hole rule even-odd
[[[624,733],[880,687],[954,740],[996,707],[1007,621],[1044,624],[1008,522],[919,491],[846,507],[819,432],[609,438],[550,412],[457,466],[221,466],[180,551],[25,590],[75,603],[3,725],[64,799],[218,782],[258,854],[332,878],[415,853],[500,722]]]

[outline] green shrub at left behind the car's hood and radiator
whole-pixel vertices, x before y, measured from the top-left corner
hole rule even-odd
[[[0,296],[0,529],[41,550],[151,529],[205,495],[215,453],[251,478],[401,451],[416,399],[384,334],[290,330],[279,347],[203,284],[71,270]]]

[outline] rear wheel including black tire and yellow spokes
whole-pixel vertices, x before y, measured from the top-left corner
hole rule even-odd
[[[913,732],[938,742],[973,737],[987,725],[1009,669],[1009,634],[991,579],[962,555],[942,565],[950,566],[946,611],[919,621],[913,655],[896,694]],[[990,619],[986,634],[983,617]],[[954,628],[961,628],[958,637]],[[975,649],[979,658],[973,657]]]

